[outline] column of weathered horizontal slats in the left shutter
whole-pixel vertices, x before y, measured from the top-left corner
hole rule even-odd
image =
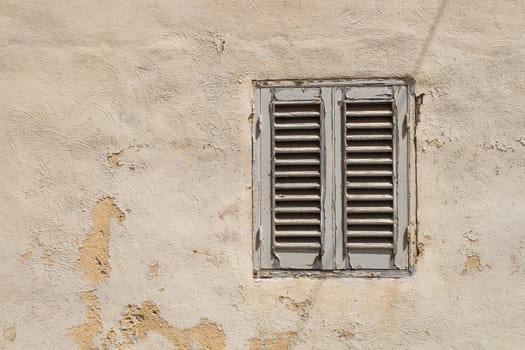
[[[321,103],[273,106],[273,244],[321,249]]]

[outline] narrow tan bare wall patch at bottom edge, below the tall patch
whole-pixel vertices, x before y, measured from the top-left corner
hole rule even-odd
[[[70,328],[69,335],[80,349],[96,349],[94,339],[102,333],[99,301],[94,291],[84,293],[81,298],[86,303],[86,321],[80,326]]]

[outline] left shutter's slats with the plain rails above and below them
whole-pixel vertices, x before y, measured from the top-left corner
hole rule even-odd
[[[274,92],[272,251],[279,268],[321,267],[323,114],[320,89]]]

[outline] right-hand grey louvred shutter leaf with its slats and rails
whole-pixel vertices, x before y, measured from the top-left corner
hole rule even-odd
[[[405,104],[403,104],[405,106]],[[403,111],[406,108],[402,108]],[[343,103],[345,249],[353,269],[392,269],[399,248],[396,165],[404,113],[392,87],[350,88]],[[406,133],[405,133],[406,134]],[[400,137],[401,136],[401,137]],[[403,189],[405,184],[401,186]],[[405,211],[401,213],[404,215]],[[397,229],[396,229],[397,228]]]

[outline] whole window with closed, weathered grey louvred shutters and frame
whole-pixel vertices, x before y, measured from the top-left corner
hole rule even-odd
[[[409,271],[411,89],[255,82],[257,276]]]

